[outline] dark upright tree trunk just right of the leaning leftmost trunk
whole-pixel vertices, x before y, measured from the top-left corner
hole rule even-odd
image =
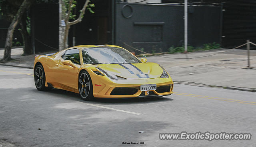
[[[20,20],[20,26],[21,26],[21,34],[23,39],[23,55],[31,55],[33,54],[33,48],[32,48],[32,42],[31,42],[31,36],[28,33],[27,30],[27,24],[26,24],[26,14],[23,15],[22,19]]]

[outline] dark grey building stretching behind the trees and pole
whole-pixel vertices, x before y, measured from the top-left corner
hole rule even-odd
[[[143,1],[144,4],[137,3],[139,1],[91,0],[95,4],[95,13],[86,12],[81,23],[71,26],[69,46],[115,44],[125,47],[126,43],[138,49],[144,48],[146,52],[167,52],[171,46],[182,46],[184,0],[153,0],[155,3],[146,0]],[[251,23],[255,13],[247,13],[251,19],[246,19],[244,12],[248,9],[242,11],[242,8],[234,5],[243,3],[244,8],[247,8],[255,3],[252,0],[223,1],[188,0],[188,45],[201,47],[203,44],[216,42],[225,48],[232,48],[246,39],[255,40],[252,35],[255,26]],[[82,6],[83,1],[78,1],[77,14]],[[256,9],[252,6],[251,12]],[[240,15],[239,12],[235,13],[237,9],[242,12]],[[35,4],[32,6],[30,17],[36,52],[52,50],[48,46],[58,48],[58,1],[51,4]],[[240,23],[240,20],[250,23],[250,27],[244,27],[246,24]],[[241,33],[242,36],[239,35]]]

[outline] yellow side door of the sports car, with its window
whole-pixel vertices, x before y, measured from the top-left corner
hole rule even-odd
[[[64,65],[63,62],[70,60],[72,66]],[[80,67],[79,50],[69,49],[61,56],[58,68],[56,69],[56,79],[62,89],[76,91],[78,87],[77,74]]]

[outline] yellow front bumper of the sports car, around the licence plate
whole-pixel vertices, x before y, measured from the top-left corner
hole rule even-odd
[[[173,93],[173,82],[171,78],[126,79],[118,81],[107,80],[106,83],[99,83],[99,81],[97,82],[98,83],[93,83],[94,97],[154,97],[171,95]],[[140,85],[144,84],[156,84],[156,90],[140,91]],[[98,87],[98,85],[101,86]],[[162,87],[168,87],[168,89],[166,89],[165,91],[159,91],[158,88]],[[130,92],[129,89],[131,89],[132,92]]]

